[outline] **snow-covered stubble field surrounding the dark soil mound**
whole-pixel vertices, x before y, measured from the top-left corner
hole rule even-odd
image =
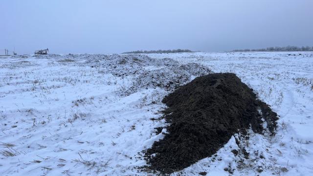
[[[313,52],[148,56],[1,58],[0,175],[147,175],[137,166],[145,165],[140,152],[163,137],[154,128],[164,121],[151,120],[161,116],[160,101],[209,69],[236,73],[271,105],[277,134],[251,132],[239,146],[234,136],[172,175],[312,175]],[[231,152],[238,148],[248,156]]]

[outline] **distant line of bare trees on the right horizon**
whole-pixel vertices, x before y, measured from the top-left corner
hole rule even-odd
[[[235,49],[234,52],[247,52],[247,51],[313,51],[313,46],[285,46],[285,47],[267,47],[262,49]]]

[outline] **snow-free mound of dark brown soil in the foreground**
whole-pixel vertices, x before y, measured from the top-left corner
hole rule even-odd
[[[277,114],[252,91],[233,73],[214,73],[166,96],[164,118],[171,125],[164,139],[145,151],[149,169],[168,174],[186,168],[215,154],[233,134],[245,133],[250,126],[262,133],[262,117],[273,135]]]

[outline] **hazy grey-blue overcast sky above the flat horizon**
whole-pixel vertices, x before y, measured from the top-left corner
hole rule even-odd
[[[313,0],[0,0],[0,17],[18,54],[313,46]]]

